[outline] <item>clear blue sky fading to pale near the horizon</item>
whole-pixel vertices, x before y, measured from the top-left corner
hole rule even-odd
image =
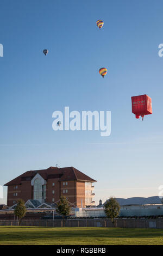
[[[162,8],[161,0],[1,1],[0,185],[58,163],[98,181],[96,204],[110,196],[158,195]],[[108,69],[104,79],[102,67]],[[153,114],[144,121],[131,113],[131,96],[141,94],[152,97]],[[111,111],[111,135],[54,131],[52,113],[65,106]]]

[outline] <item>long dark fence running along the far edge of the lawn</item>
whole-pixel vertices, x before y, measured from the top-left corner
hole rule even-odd
[[[18,225],[18,221],[4,220],[0,221],[2,225]],[[114,227],[113,223],[109,219],[97,219],[97,220],[22,220],[21,226],[36,226],[36,227]],[[115,227],[117,228],[162,228],[163,219],[121,219],[115,220]]]

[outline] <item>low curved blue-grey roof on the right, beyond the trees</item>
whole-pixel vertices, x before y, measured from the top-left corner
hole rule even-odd
[[[158,196],[154,197],[130,197],[130,198],[115,198],[120,206],[124,205],[147,205],[147,204],[163,204],[163,199]],[[102,205],[104,206],[104,204]]]

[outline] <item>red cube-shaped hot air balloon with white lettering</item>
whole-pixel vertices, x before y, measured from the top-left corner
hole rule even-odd
[[[147,94],[133,96],[132,101],[132,112],[135,114],[135,118],[142,120],[145,115],[152,114],[152,99]]]

